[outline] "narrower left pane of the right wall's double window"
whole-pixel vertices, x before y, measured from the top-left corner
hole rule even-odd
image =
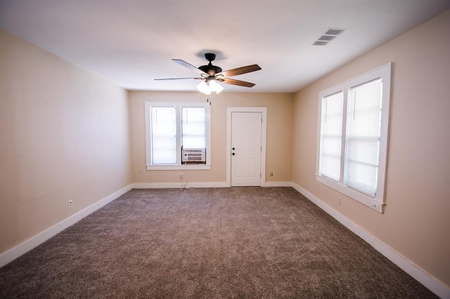
[[[340,179],[343,93],[322,99],[319,174]]]

